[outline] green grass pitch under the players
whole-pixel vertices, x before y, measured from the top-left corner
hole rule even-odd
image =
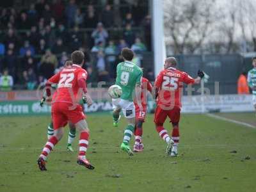
[[[164,154],[153,116],[143,126],[145,150],[133,157],[119,149],[125,120],[112,127],[110,114],[88,115],[88,159],[76,164],[66,152],[67,134],[50,154],[47,172],[36,160],[50,116],[0,117],[0,191],[255,191],[256,129],[205,115],[182,115],[179,157]],[[170,124],[165,124],[170,132]],[[68,130],[68,129],[67,129]],[[77,149],[78,136],[74,141]],[[131,146],[133,145],[133,140]]]

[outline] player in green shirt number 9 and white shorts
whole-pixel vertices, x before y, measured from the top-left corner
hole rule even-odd
[[[117,127],[120,120],[120,112],[124,113],[128,125],[124,131],[124,140],[121,144],[121,149],[132,156],[132,150],[129,147],[134,132],[136,122],[135,106],[133,100],[136,99],[138,106],[142,111],[141,106],[141,77],[143,72],[140,67],[132,63],[134,52],[131,49],[122,49],[122,57],[124,62],[119,63],[116,67],[116,84],[122,88],[122,96],[118,99],[112,99],[113,103],[113,125]],[[135,96],[135,97],[134,97]]]

